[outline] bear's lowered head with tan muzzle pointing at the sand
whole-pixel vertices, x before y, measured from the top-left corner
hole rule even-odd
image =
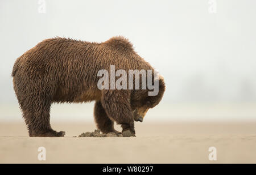
[[[131,97],[131,108],[133,110],[134,121],[142,122],[148,109],[154,108],[162,100],[166,89],[164,79],[159,76],[159,91],[155,96],[148,95],[148,89],[135,91]]]

